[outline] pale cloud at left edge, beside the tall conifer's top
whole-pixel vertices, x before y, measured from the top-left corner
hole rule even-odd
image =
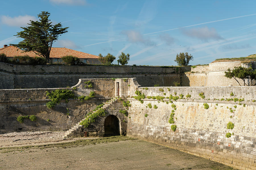
[[[27,24],[30,23],[29,20],[36,21],[36,17],[30,16],[30,15],[24,15],[24,16],[16,16],[16,17],[10,17],[10,16],[1,16],[1,22],[3,24],[14,26],[14,27],[24,27],[28,26]]]

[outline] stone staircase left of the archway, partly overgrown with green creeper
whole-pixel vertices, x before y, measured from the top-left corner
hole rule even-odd
[[[118,100],[117,97],[112,98],[106,102],[104,102],[103,107],[101,107],[102,109],[107,109],[110,105],[112,105],[112,103],[116,102]],[[93,111],[92,113],[94,113],[96,111]],[[89,116],[89,115],[88,115]],[[81,134],[82,132],[82,125],[80,125],[80,123],[85,120],[87,117],[87,115],[85,116],[84,119],[82,119],[80,122],[78,122],[77,124],[75,124],[71,129],[69,129],[68,131],[65,132],[65,135],[63,135],[63,138],[69,138],[69,137],[81,137],[83,136],[83,134]]]

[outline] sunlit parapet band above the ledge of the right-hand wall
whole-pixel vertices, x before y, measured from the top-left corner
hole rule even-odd
[[[164,90],[163,92],[159,89]],[[170,91],[169,91],[169,90]],[[191,95],[190,98],[186,99],[201,99],[199,93],[204,93],[205,99],[229,99],[229,98],[244,98],[244,101],[256,100],[256,87],[255,86],[236,86],[236,87],[148,87],[146,90],[144,87],[139,87],[139,91],[144,93],[146,96],[164,96],[169,97],[170,95],[180,94]],[[230,94],[233,92],[233,96]],[[166,93],[166,95],[164,95]],[[175,94],[176,93],[176,94]],[[135,93],[130,93],[130,96],[136,96]]]

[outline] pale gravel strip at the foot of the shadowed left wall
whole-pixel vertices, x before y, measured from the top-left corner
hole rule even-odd
[[[0,143],[28,143],[47,142],[63,139],[63,132],[43,131],[43,132],[13,132],[0,135]]]

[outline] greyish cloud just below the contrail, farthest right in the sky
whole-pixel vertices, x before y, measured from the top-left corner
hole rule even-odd
[[[210,29],[208,27],[192,28],[189,30],[182,30],[182,32],[189,37],[198,38],[204,41],[207,41],[209,39],[215,39],[215,40],[223,39],[214,28],[210,28]]]

